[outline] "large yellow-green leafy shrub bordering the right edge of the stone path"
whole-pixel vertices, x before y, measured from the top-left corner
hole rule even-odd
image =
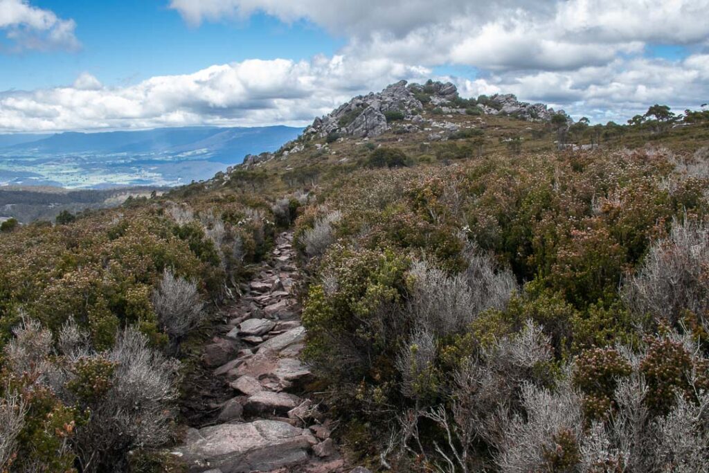
[[[347,394],[352,395],[351,383],[363,379],[366,389],[393,389],[398,342],[411,330],[398,309],[408,261],[389,250],[335,246],[321,268],[331,283],[327,291],[322,283],[311,286],[303,308],[308,330],[303,354]]]

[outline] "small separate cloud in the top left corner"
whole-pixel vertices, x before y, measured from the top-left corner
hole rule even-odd
[[[0,52],[20,50],[77,50],[76,23],[63,20],[50,10],[39,9],[28,0],[0,0],[0,30],[11,43],[0,44]]]

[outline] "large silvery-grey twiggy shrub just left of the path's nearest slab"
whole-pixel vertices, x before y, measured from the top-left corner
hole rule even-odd
[[[169,440],[177,399],[177,362],[148,347],[145,335],[127,328],[105,355],[93,355],[77,365],[72,386],[91,408],[91,418],[79,425],[74,438],[85,472],[125,468],[135,447],[157,447]],[[94,381],[82,386],[81,380]],[[88,395],[88,396],[87,396]]]

